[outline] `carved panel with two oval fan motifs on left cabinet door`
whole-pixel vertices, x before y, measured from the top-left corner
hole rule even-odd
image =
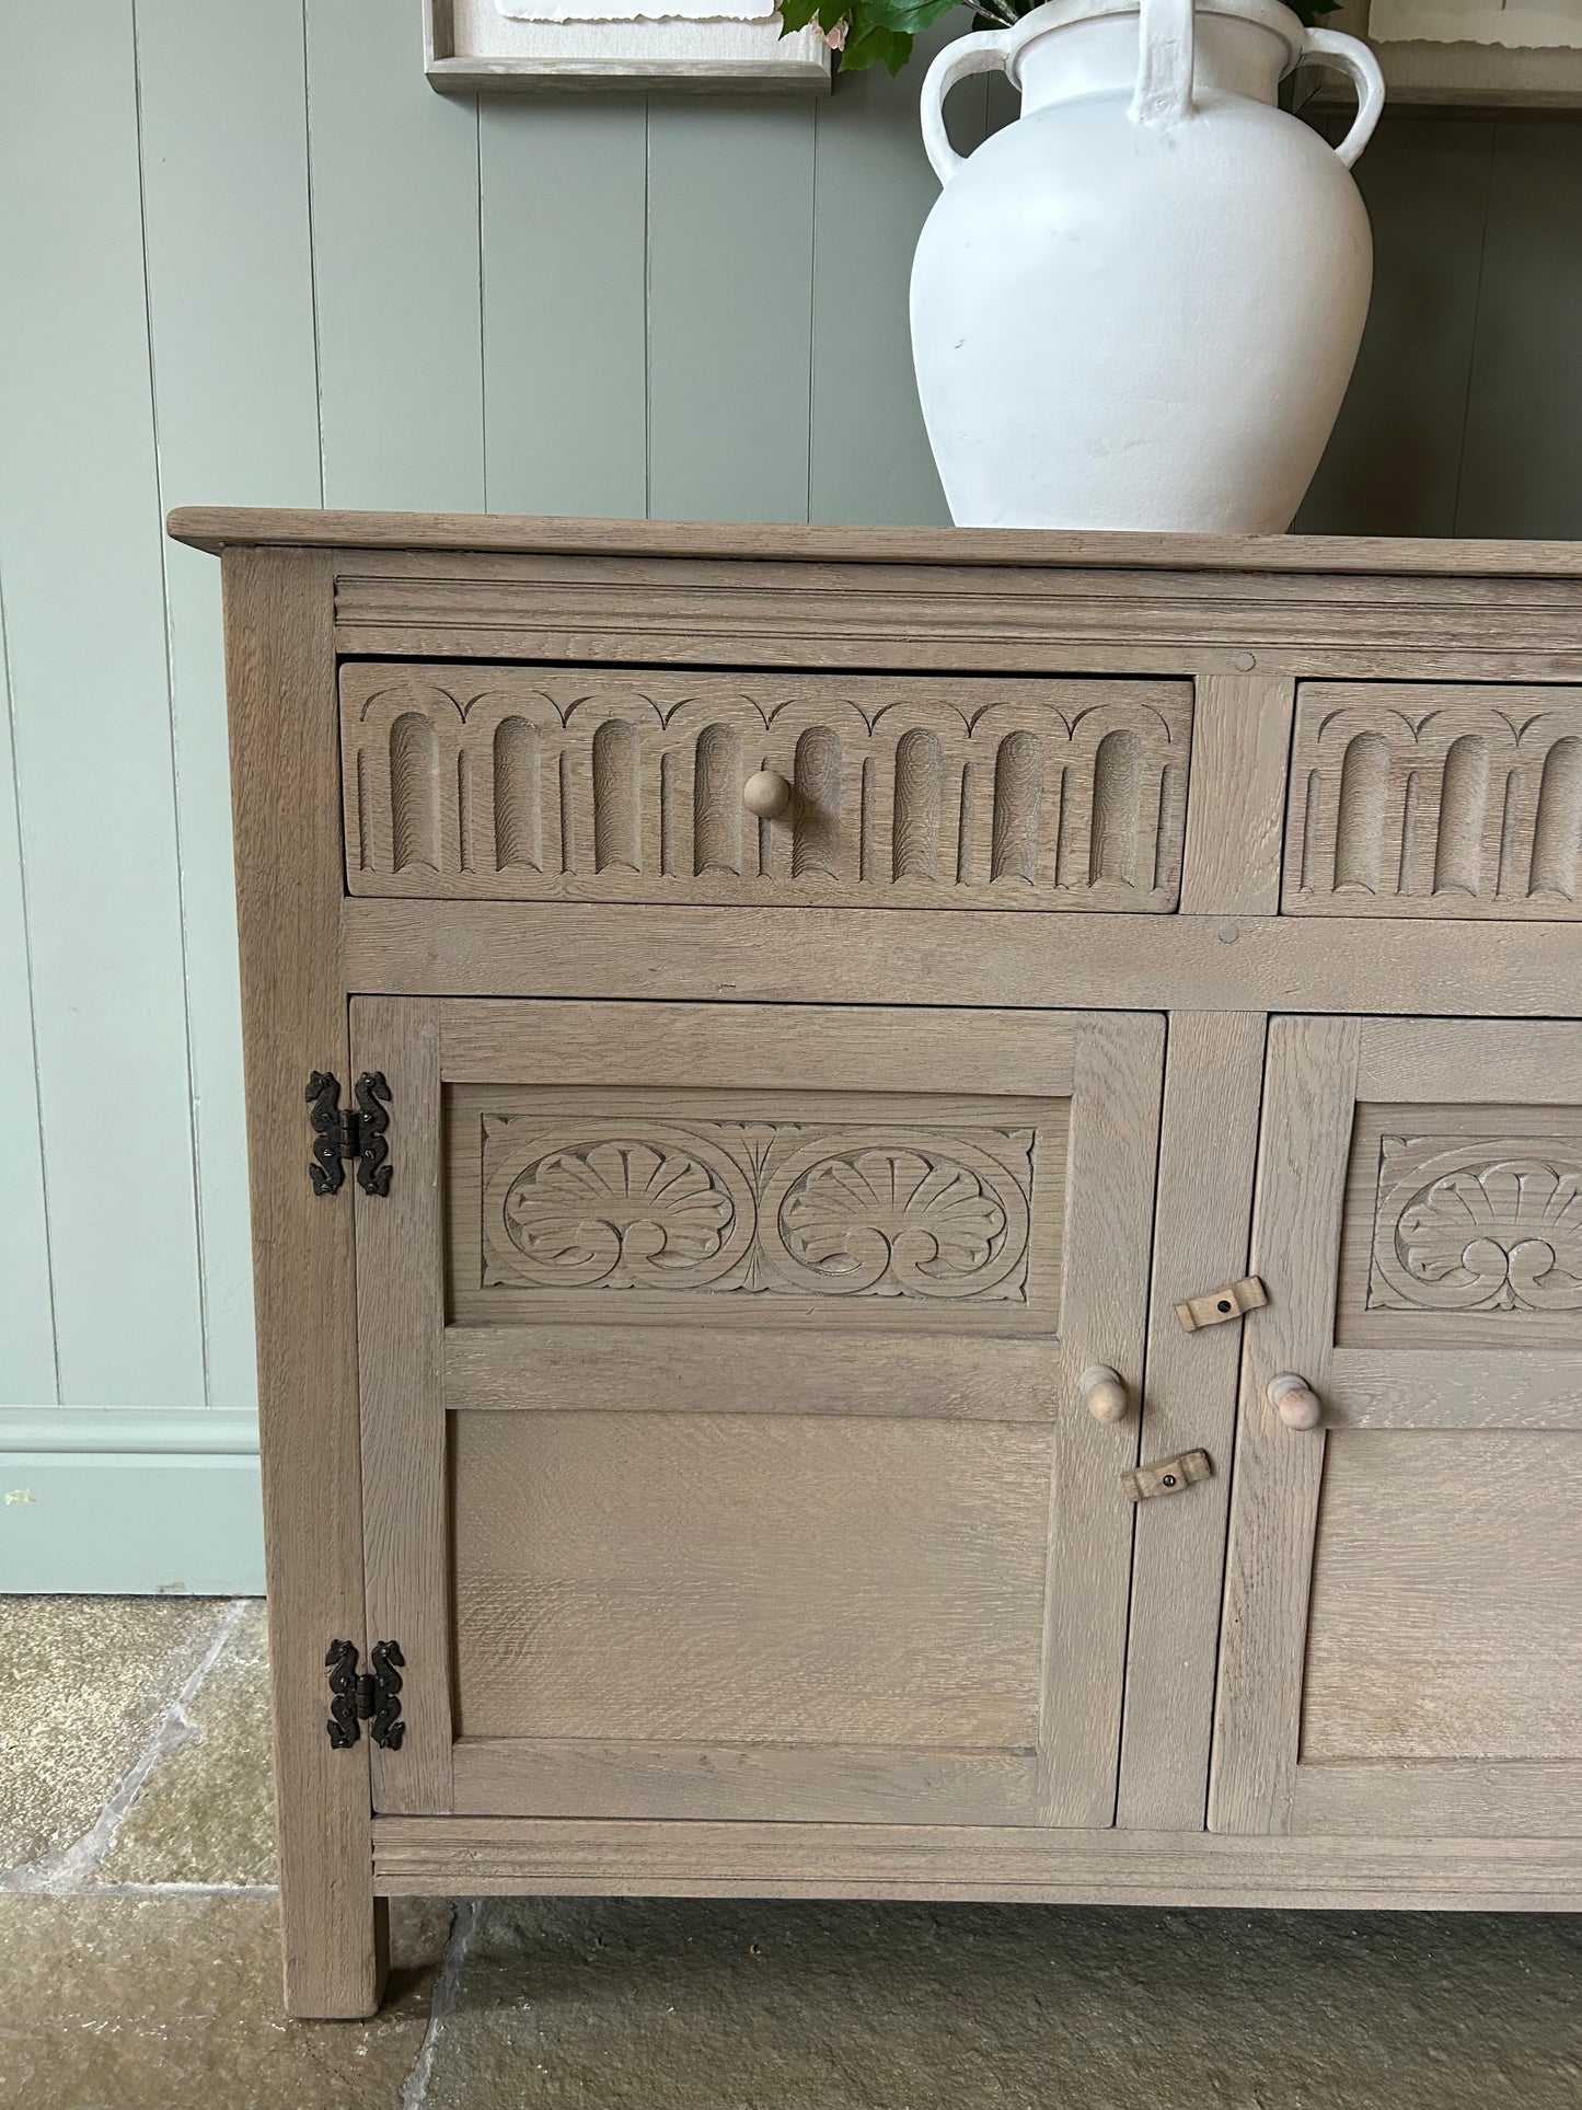
[[[483,1114],[483,1289],[1027,1302],[1034,1129]]]

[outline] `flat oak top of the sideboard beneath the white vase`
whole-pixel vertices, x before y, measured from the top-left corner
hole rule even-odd
[[[804,563],[1042,565],[1202,572],[1582,578],[1582,542],[1390,536],[1069,534],[1031,528],[802,528],[711,521],[557,519],[508,513],[335,513],[177,506],[177,542],[475,551],[498,555],[705,557]]]

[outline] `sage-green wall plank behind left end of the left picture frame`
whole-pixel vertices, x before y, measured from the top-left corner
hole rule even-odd
[[[413,0],[306,0],[325,504],[483,509],[479,114]]]

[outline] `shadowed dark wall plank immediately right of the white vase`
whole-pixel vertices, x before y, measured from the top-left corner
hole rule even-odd
[[[1386,116],[1356,165],[1373,306],[1299,532],[1455,532],[1491,152],[1489,122]]]

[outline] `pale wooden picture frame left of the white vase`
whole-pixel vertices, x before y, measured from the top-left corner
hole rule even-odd
[[[783,38],[774,17],[513,21],[496,0],[424,0],[424,72],[447,95],[544,89],[827,95],[831,53],[816,27]]]

